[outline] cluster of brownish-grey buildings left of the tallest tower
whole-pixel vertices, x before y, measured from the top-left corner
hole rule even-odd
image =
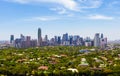
[[[36,47],[37,39],[31,39],[31,36],[20,35],[20,38],[14,40],[14,35],[11,35],[10,44],[16,48]]]

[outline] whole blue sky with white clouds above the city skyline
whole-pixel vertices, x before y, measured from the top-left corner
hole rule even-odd
[[[42,36],[103,33],[108,40],[120,39],[120,0],[0,0],[0,40],[20,34]]]

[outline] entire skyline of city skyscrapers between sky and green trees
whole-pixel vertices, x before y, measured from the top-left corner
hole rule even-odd
[[[41,28],[38,28],[38,39],[31,39],[31,36],[20,35],[20,38],[14,40],[14,35],[10,37],[10,43],[17,48],[28,48],[36,46],[95,46],[98,48],[106,48],[107,38],[103,34],[96,33],[94,39],[90,37],[80,37],[79,35],[54,36],[48,39],[48,36],[42,37]]]

